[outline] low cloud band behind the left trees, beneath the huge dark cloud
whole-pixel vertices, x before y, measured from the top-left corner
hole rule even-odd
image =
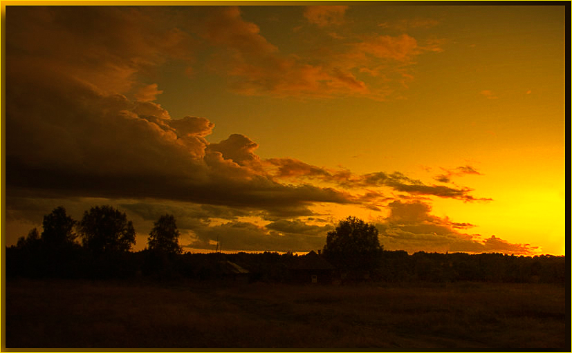
[[[189,202],[8,196],[6,204],[8,231],[3,236],[7,245],[15,244],[19,236],[26,236],[33,227],[37,227],[41,233],[43,217],[60,205],[63,205],[68,215],[75,220],[81,220],[84,211],[102,204],[110,204],[127,213],[127,218],[133,221],[137,232],[136,249],[143,249],[147,245],[149,231],[154,222],[165,214],[175,217],[176,225],[181,231],[181,245],[186,248],[212,249],[212,242],[218,237],[227,250],[309,251],[320,249],[326,232],[331,229],[330,225],[307,225],[300,220],[282,219],[285,216],[296,217],[299,213],[304,213],[300,209],[281,209],[279,211],[282,213],[264,227],[241,218],[268,216],[268,211]],[[325,221],[321,222],[324,224]]]

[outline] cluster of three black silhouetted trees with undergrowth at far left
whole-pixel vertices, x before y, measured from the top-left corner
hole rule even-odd
[[[131,251],[133,222],[109,205],[91,207],[79,221],[56,207],[44,216],[42,229],[30,230],[6,249],[8,277],[126,278],[142,268],[163,271],[182,253],[181,234],[170,214],[154,222],[139,254]]]

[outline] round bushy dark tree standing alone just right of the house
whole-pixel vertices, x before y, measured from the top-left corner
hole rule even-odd
[[[375,226],[349,216],[328,232],[324,256],[332,265],[349,271],[375,269],[382,247]]]

